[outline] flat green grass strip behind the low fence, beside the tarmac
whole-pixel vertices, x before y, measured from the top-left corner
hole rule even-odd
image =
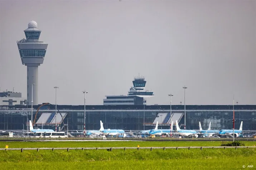
[[[0,148],[86,148],[86,147],[171,147],[171,146],[221,146],[223,141],[8,141],[0,142]],[[245,146],[256,141],[242,141]]]

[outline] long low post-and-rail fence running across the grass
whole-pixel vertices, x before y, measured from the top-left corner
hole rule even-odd
[[[126,149],[150,149],[151,151],[153,149],[219,149],[219,148],[223,148],[223,149],[227,149],[227,148],[256,148],[255,146],[181,146],[181,147],[107,147],[107,148],[0,148],[0,150],[20,150],[21,152],[23,152],[24,150],[102,150],[102,149],[106,149],[108,151],[112,151],[113,149],[122,149],[122,150],[126,150]]]

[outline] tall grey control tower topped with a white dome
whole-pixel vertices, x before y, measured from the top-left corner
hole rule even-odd
[[[26,39],[17,41],[20,58],[23,65],[27,66],[27,101],[28,105],[38,104],[38,66],[43,64],[48,44],[39,41],[41,30],[37,22],[30,21],[28,29],[24,30]],[[32,92],[33,89],[33,92]],[[33,98],[32,98],[33,95]]]

